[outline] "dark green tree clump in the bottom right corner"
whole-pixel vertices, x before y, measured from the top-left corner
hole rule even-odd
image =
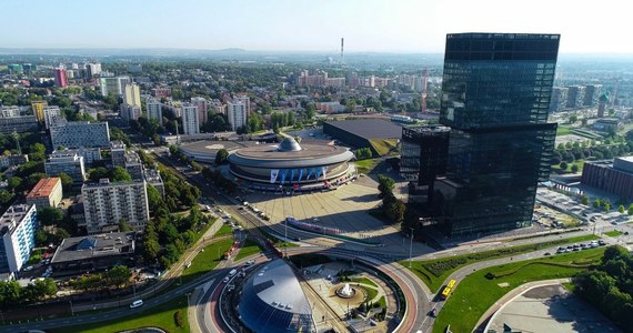
[[[575,275],[574,293],[591,303],[625,332],[633,327],[633,255],[609,246],[602,263]]]

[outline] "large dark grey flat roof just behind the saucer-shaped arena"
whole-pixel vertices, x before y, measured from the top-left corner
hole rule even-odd
[[[402,138],[402,127],[386,120],[359,119],[328,121],[325,123],[368,140]]]

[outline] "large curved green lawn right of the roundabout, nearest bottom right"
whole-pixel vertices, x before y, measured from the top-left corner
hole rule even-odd
[[[514,262],[474,272],[463,279],[440,311],[433,332],[471,332],[483,313],[504,294],[531,281],[570,278],[602,259],[605,248]],[[494,279],[485,278],[488,273]],[[500,284],[504,285],[501,286]]]

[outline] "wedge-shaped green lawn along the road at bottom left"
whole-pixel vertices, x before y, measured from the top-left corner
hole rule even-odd
[[[175,312],[180,311],[182,327],[175,324]],[[110,333],[121,332],[140,327],[160,327],[165,332],[190,332],[187,319],[187,296],[182,295],[161,305],[143,310],[133,315],[117,319],[111,322],[100,322],[72,327],[51,330],[53,333],[82,332],[82,333]]]

